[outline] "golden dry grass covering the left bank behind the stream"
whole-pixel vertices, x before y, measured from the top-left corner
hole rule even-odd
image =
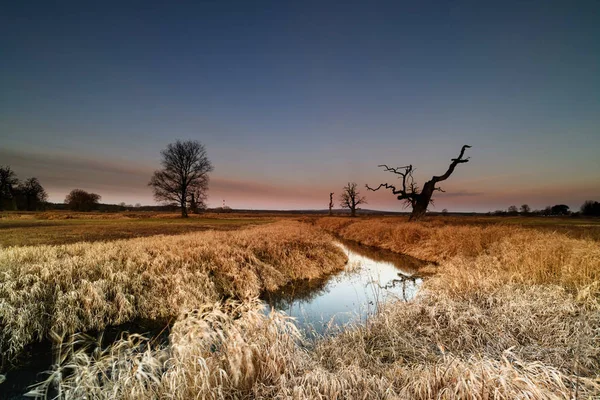
[[[163,320],[222,297],[249,299],[344,262],[326,235],[294,222],[0,250],[0,349],[11,357],[51,330]]]

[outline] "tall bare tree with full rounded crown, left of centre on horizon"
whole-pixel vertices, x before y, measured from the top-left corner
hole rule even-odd
[[[197,208],[208,191],[208,173],[213,166],[204,145],[196,140],[176,141],[161,151],[163,169],[155,171],[148,183],[157,201],[178,204],[187,218],[187,205],[193,200]],[[193,198],[192,198],[193,197]]]

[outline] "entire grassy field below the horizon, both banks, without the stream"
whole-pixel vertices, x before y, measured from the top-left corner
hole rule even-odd
[[[63,343],[40,396],[600,396],[597,221],[65,215],[0,220],[0,373]],[[426,260],[428,278],[411,302],[308,341],[257,298],[342,269],[336,236]],[[82,334],[137,319],[174,321],[168,343]]]

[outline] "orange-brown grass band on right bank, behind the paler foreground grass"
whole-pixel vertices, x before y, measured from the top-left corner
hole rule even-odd
[[[316,225],[362,244],[443,265],[462,263],[442,272],[471,271],[455,279],[456,285],[467,291],[478,282],[556,283],[580,290],[600,281],[598,243],[555,232],[506,225],[398,223],[390,219],[322,218]]]

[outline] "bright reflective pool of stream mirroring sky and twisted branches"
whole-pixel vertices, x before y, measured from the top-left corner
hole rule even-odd
[[[409,301],[421,286],[417,270],[423,261],[352,242],[338,245],[348,256],[342,272],[266,294],[267,310],[274,307],[296,318],[309,336],[325,334],[349,322],[364,322],[386,301]]]

